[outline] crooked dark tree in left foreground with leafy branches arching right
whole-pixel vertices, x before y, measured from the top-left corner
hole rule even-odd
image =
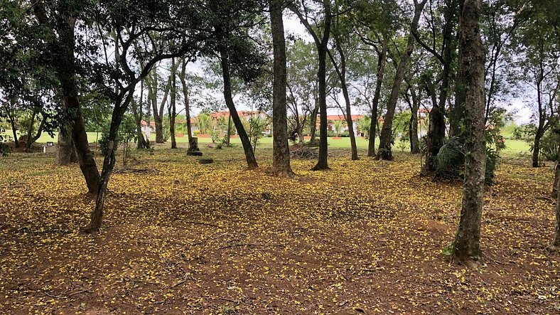
[[[182,1],[172,1],[154,6],[151,1],[142,1],[131,9],[129,6],[111,1],[104,3],[102,8],[97,8],[95,15],[98,26],[97,40],[104,50],[105,67],[102,70],[105,70],[107,75],[105,78],[107,83],[100,88],[107,93],[112,93],[114,107],[109,125],[107,155],[103,160],[95,208],[90,215],[90,224],[85,228],[86,232],[95,232],[101,227],[107,185],[116,161],[119,127],[129,104],[134,99],[136,84],[146,78],[162,60],[177,58],[198,48],[199,39],[190,36],[193,32],[191,26],[198,25],[202,18],[195,14],[197,10],[190,5],[183,4]],[[177,18],[178,15],[184,14],[190,14],[190,18],[185,20]],[[154,16],[157,18],[151,18]],[[135,54],[131,48],[135,46],[135,41],[146,41],[151,38],[154,35],[152,32],[156,32],[158,36],[165,36],[173,45],[152,45],[146,48],[142,52],[146,63],[143,67],[139,67],[139,60],[134,58]],[[107,38],[107,33],[114,33],[116,36],[111,40],[110,37]],[[109,47],[114,48],[114,62],[107,58]]]

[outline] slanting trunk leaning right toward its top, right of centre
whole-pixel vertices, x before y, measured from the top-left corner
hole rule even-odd
[[[422,0],[420,3],[418,3],[416,0],[414,0],[414,18],[412,18],[409,36],[406,39],[406,50],[401,56],[401,60],[399,61],[399,65],[397,66],[397,72],[395,73],[394,82],[391,89],[391,96],[389,97],[389,102],[387,103],[387,113],[385,114],[383,127],[381,128],[381,136],[379,137],[379,149],[377,150],[377,158],[379,159],[393,159],[391,146],[393,139],[392,125],[394,111],[397,107],[397,101],[399,100],[401,83],[404,78],[404,70],[406,69],[406,65],[408,64],[410,55],[412,54],[412,50],[414,50],[415,39],[413,34],[416,33],[416,30],[418,29],[418,21],[422,14],[422,10],[424,10],[426,1],[427,0]]]

